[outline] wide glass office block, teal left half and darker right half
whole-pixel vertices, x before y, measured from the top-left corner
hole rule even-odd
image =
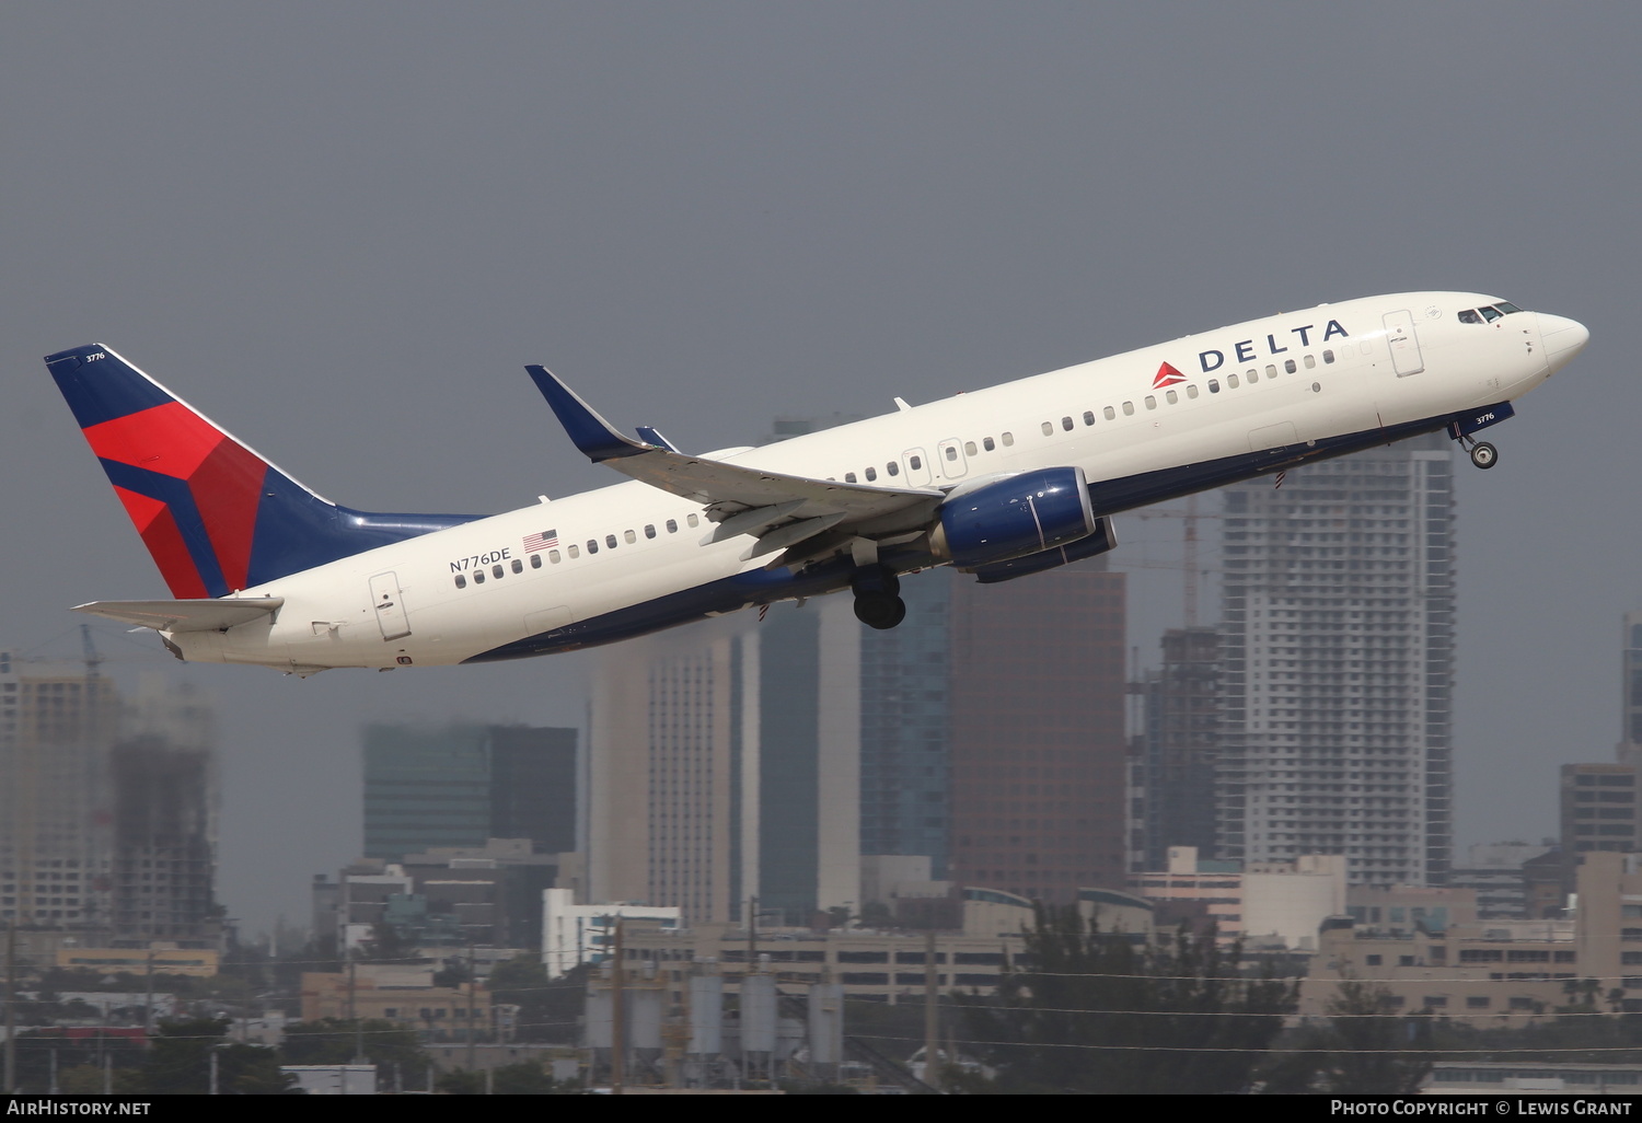
[[[530,839],[575,849],[576,731],[532,726],[365,727],[365,855]]]

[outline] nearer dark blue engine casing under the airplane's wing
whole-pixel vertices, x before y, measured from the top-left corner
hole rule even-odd
[[[1094,530],[1084,470],[1039,468],[956,491],[941,504],[929,547],[938,558],[974,570],[1067,545]]]

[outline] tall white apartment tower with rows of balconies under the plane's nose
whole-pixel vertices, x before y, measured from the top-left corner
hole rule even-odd
[[[1453,461],[1443,435],[1225,493],[1220,855],[1342,854],[1443,885],[1452,850]]]

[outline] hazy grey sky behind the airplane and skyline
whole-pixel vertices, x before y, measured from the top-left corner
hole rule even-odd
[[[1642,261],[1626,5],[8,3],[0,644],[163,596],[39,363],[102,341],[332,499],[493,512],[611,476],[522,364],[690,448],[1373,292],[1481,289],[1586,353],[1460,476],[1460,841],[1555,829],[1619,737]],[[1166,558],[1161,520],[1120,548]],[[1146,539],[1156,542],[1146,542]],[[1130,642],[1179,622],[1141,570]],[[218,698],[223,875],[305,919],[358,726],[580,722],[557,657]]]

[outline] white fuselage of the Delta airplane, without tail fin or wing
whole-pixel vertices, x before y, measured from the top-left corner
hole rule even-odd
[[[1412,292],[1319,305],[722,458],[860,483],[869,483],[870,470],[880,484],[943,489],[1077,466],[1095,494],[1095,512],[1105,516],[1135,504],[1113,499],[1117,506],[1102,507],[1100,481],[1176,473],[1189,483],[1176,484],[1174,494],[1197,491],[1254,474],[1250,453],[1296,453],[1263,468],[1276,470],[1304,460],[1309,448],[1350,451],[1328,451],[1330,438],[1522,396],[1558,364],[1547,361],[1542,335],[1570,322],[1535,312],[1491,323],[1456,320],[1461,309],[1494,302],[1481,294]],[[1179,378],[1163,369],[1166,363]],[[1387,438],[1396,435],[1407,432]],[[1213,470],[1217,463],[1225,468]],[[1194,466],[1204,471],[1181,474]],[[1154,497],[1148,493],[1143,501]],[[557,545],[530,539],[548,530]],[[284,606],[273,621],[169,640],[189,660],[297,673],[448,665],[530,637],[560,635],[540,650],[565,650],[816,591],[770,581],[749,584],[739,603],[736,594],[729,603],[722,594],[691,599],[693,589],[724,589],[729,578],[770,560],[742,560],[747,537],[706,543],[711,530],[701,504],[645,483],[619,483],[245,589],[240,596],[277,596]],[[575,626],[604,619],[622,624],[608,632],[591,624],[578,637]]]

